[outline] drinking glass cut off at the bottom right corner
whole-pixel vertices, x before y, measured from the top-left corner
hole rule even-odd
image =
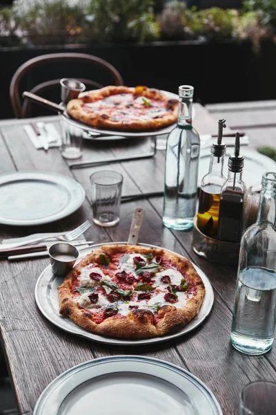
[[[239,415],[275,415],[276,383],[266,380],[250,382],[242,390]]]

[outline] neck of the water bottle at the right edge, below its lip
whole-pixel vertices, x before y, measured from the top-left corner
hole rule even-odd
[[[276,188],[262,187],[257,222],[269,222],[276,226]]]

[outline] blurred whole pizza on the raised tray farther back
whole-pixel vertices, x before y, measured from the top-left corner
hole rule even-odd
[[[146,86],[106,86],[70,100],[67,112],[99,129],[151,131],[177,121],[178,101]]]

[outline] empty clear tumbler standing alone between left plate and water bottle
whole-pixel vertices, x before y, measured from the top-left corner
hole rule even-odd
[[[119,222],[123,176],[117,172],[100,171],[91,174],[93,221],[100,226]]]

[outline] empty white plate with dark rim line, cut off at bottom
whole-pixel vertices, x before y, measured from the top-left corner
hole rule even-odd
[[[213,393],[181,367],[110,356],[72,367],[43,391],[34,415],[222,415]]]

